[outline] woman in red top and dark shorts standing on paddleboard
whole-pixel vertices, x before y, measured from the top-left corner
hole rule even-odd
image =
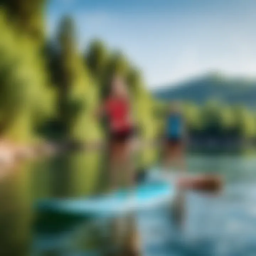
[[[121,77],[114,76],[110,94],[103,102],[100,114],[108,119],[111,187],[118,187],[120,174],[126,175],[126,185],[131,186],[134,177],[130,145],[134,134],[134,123],[127,85]]]

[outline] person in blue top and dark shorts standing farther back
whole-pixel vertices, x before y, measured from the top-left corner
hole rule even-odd
[[[183,151],[185,145],[185,122],[181,107],[178,103],[171,103],[168,109],[165,125],[165,165],[175,165],[184,168]]]

